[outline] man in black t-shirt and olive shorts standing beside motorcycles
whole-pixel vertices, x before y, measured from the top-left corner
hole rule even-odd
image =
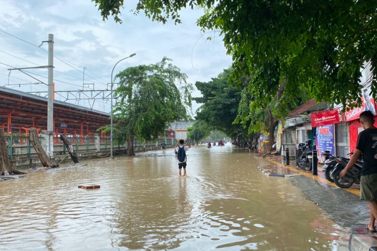
[[[340,173],[345,177],[348,170],[363,154],[363,166],[360,178],[360,199],[368,201],[370,221],[366,230],[375,233],[374,222],[377,218],[377,128],[374,127],[374,118],[371,111],[360,114],[360,123],[365,129],[357,138],[355,153],[349,160],[346,168]]]

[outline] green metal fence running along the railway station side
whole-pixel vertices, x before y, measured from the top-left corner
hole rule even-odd
[[[75,151],[77,153],[84,152],[95,152],[97,151],[96,140],[99,140],[99,149],[100,151],[109,151],[110,150],[110,138],[100,138],[100,137],[69,137],[68,138],[72,143]],[[68,154],[67,148],[64,145],[60,137],[54,137],[54,155],[66,155]],[[17,136],[17,135],[8,135],[5,136],[5,141],[8,146],[8,155],[11,159],[20,159],[20,158],[31,158],[37,157],[37,153],[34,150],[32,143],[29,140],[28,136]],[[44,138],[39,137],[39,143],[43,145]],[[174,140],[167,140],[168,144],[175,142]],[[170,142],[171,141],[171,142]],[[136,139],[133,141],[133,147],[152,147],[160,146],[164,142],[163,139],[158,139],[156,142],[145,141],[139,142]],[[114,150],[124,149],[124,145],[121,145],[119,142],[114,141],[113,144]]]

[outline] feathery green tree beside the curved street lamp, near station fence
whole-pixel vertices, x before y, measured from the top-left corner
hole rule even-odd
[[[151,65],[129,67],[118,73],[119,87],[115,90],[114,137],[128,145],[128,155],[133,152],[133,139],[156,140],[168,123],[190,118],[192,84],[178,67],[163,58]],[[176,84],[179,83],[179,84]],[[179,87],[177,87],[177,85]]]

